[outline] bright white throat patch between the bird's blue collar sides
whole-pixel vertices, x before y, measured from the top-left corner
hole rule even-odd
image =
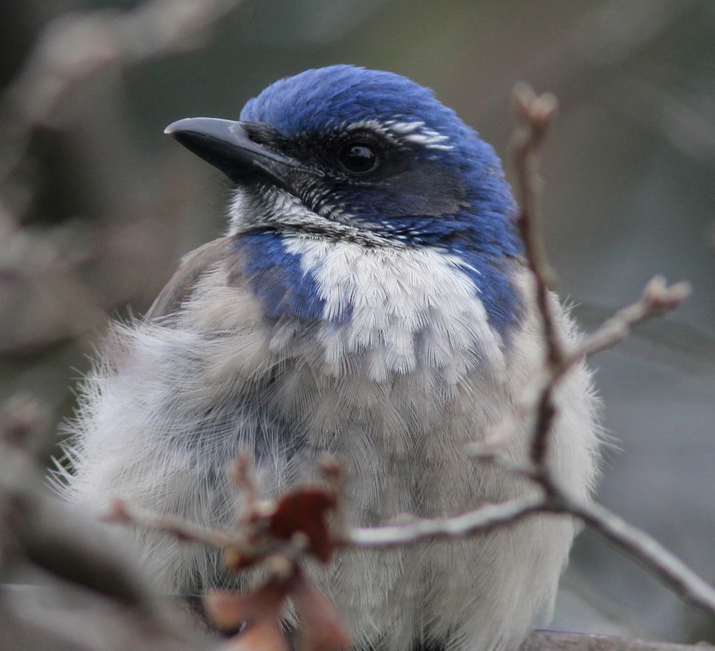
[[[458,382],[475,367],[504,367],[501,337],[489,326],[474,282],[457,256],[430,247],[365,247],[308,235],[285,238],[325,301],[325,362],[367,354],[370,377],[441,369]]]

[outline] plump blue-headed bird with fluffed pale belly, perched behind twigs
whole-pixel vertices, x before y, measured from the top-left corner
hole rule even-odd
[[[230,227],[184,258],[144,320],[114,327],[70,426],[69,499],[102,512],[120,495],[227,525],[238,449],[267,497],[332,452],[353,525],[534,490],[465,453],[542,364],[515,204],[475,131],[403,76],[338,65],[275,82],[240,121],[166,132],[235,182]],[[553,309],[575,340],[556,297]],[[549,462],[588,497],[587,369],[558,407]],[[527,448],[525,427],[509,454]],[[550,617],[575,530],[538,515],[459,542],[352,550],[315,574],[356,649],[514,649]],[[213,550],[132,535],[166,590],[236,580]]]

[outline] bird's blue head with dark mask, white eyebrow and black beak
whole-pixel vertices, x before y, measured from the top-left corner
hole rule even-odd
[[[493,324],[516,318],[506,267],[521,244],[499,159],[429,89],[330,66],[276,81],[240,121],[166,132],[237,185],[232,232],[435,247],[463,260]]]

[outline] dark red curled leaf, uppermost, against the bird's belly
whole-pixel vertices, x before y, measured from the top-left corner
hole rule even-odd
[[[327,562],[335,545],[330,539],[325,512],[333,507],[335,498],[320,489],[305,489],[284,495],[270,519],[269,531],[283,540],[290,540],[296,532],[304,533],[313,554]]]

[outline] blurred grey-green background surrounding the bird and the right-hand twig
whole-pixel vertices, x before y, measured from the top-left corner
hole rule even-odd
[[[694,285],[593,360],[599,497],[715,582],[713,0],[0,1],[0,397],[40,405],[39,457],[107,318],[141,314],[225,227],[229,185],[164,126],[237,118],[272,81],[335,63],[430,86],[502,155],[513,83],[558,95],[547,244],[582,326],[656,273]],[[551,627],[715,642],[715,622],[588,532]]]

